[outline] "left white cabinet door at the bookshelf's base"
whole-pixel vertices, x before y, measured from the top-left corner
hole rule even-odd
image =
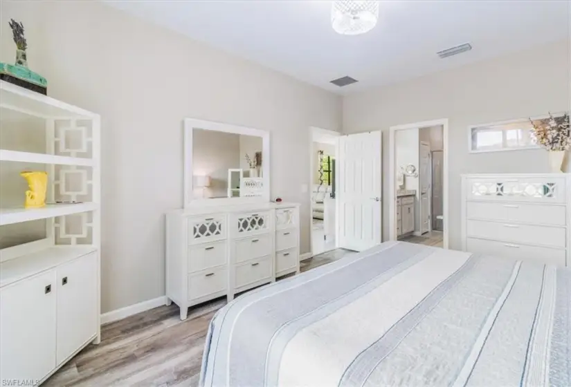
[[[0,380],[35,381],[55,368],[55,270],[0,290]]]

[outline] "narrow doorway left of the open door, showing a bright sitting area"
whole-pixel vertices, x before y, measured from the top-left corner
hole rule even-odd
[[[311,127],[311,255],[336,249],[336,160],[341,133]]]

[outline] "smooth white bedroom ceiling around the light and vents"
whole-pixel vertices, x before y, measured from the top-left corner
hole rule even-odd
[[[336,93],[351,93],[568,37],[568,1],[381,1],[365,35],[331,28],[331,1],[108,1]],[[469,42],[473,50],[439,59]],[[359,83],[329,81],[350,75]]]

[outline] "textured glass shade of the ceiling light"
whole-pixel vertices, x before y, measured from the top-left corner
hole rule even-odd
[[[377,25],[379,1],[338,0],[333,1],[331,23],[342,35],[364,34]]]

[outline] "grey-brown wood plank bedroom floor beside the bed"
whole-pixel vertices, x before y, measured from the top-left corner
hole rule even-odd
[[[354,254],[336,249],[301,263],[302,272]],[[103,325],[98,346],[90,344],[44,386],[197,386],[208,323],[226,299],[190,308],[161,306]]]

